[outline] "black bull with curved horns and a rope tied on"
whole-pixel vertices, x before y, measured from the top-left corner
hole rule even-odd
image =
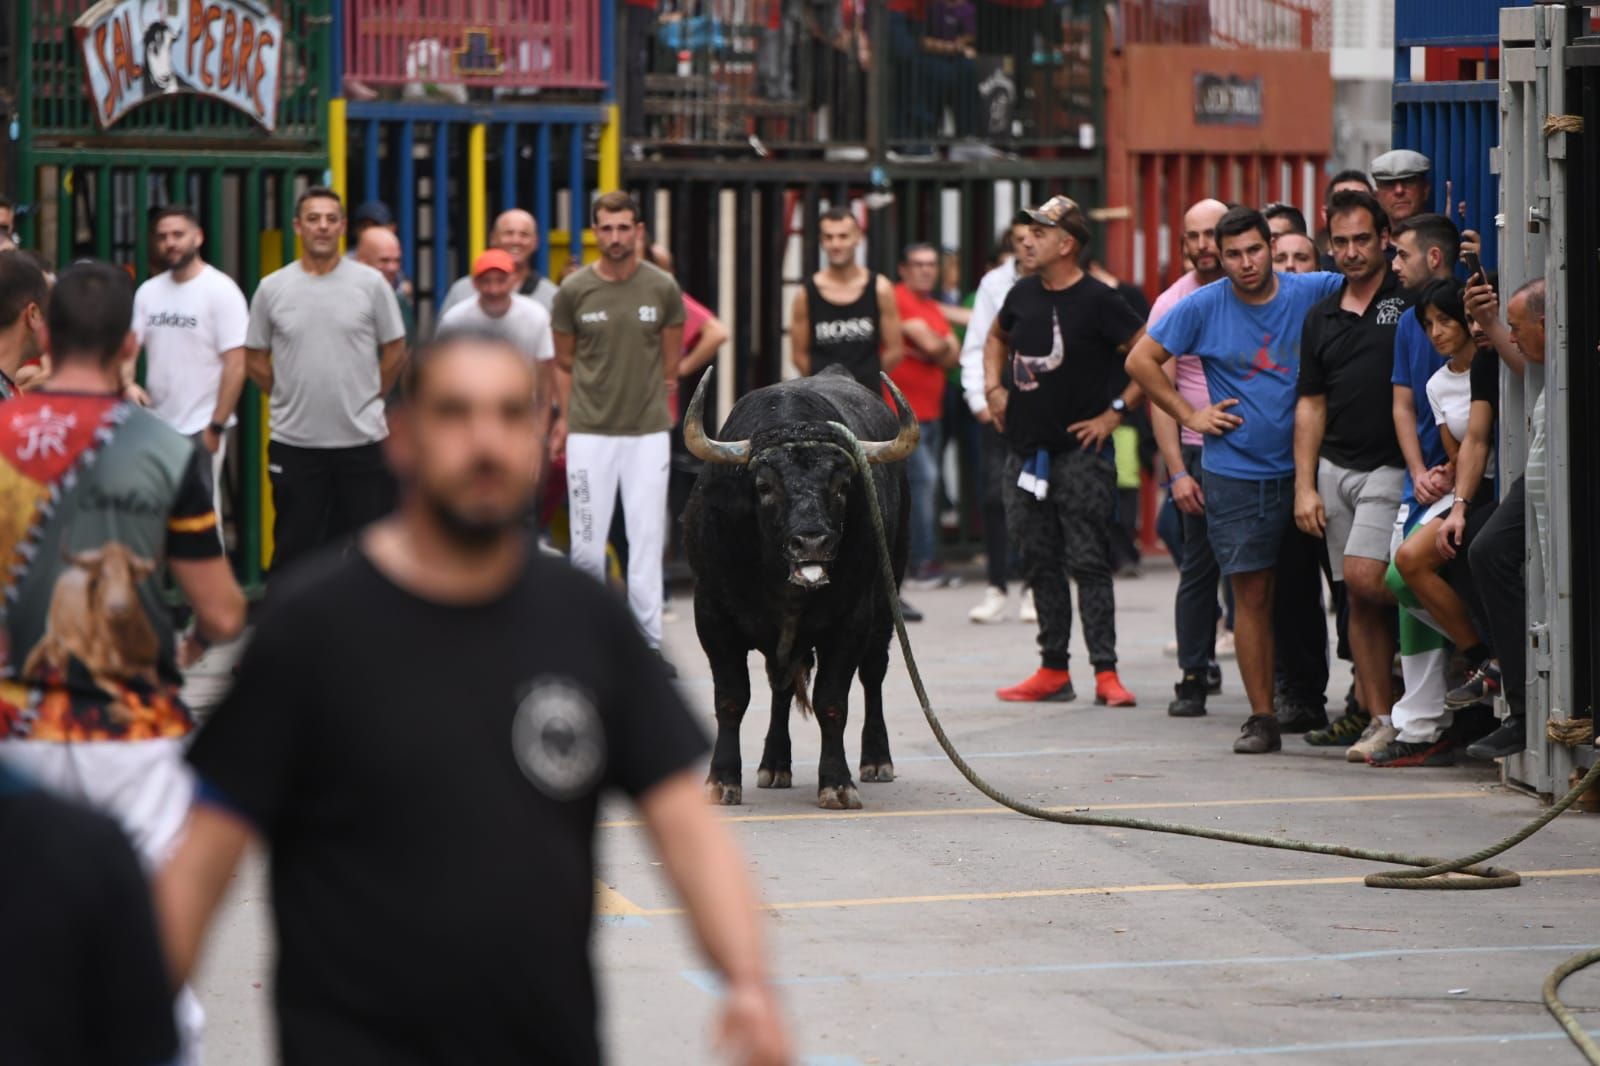
[[[906,456],[917,447],[917,419],[898,392],[896,418],[882,397],[830,370],[746,395],[718,439],[707,439],[707,379],[683,419],[685,443],[707,461],[683,512],[683,543],[694,570],[694,627],[715,685],[709,797],[730,805],[744,799],[739,723],[750,706],[754,648],[766,658],[773,690],[757,786],[794,784],[789,706],[798,695],[822,733],[818,805],[858,808],[861,794],[845,760],[850,683],[858,672],[866,693],[861,779],[894,779],[883,723],[893,616],[878,576],[866,479],[827,423],[848,426],[866,445],[899,584],[910,506]],[[816,688],[806,699],[813,667]]]

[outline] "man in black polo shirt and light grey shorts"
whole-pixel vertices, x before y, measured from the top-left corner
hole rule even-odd
[[[1366,192],[1333,194],[1333,256],[1344,285],[1306,315],[1294,407],[1294,522],[1328,541],[1333,579],[1350,597],[1350,653],[1366,714],[1352,711],[1314,743],[1355,743],[1394,703],[1392,603],[1384,573],[1405,458],[1395,439],[1389,370],[1410,306],[1389,269],[1389,218]],[[1310,739],[1310,738],[1307,738]]]

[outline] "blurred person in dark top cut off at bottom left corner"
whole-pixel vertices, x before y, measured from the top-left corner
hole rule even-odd
[[[117,823],[0,762],[0,1063],[171,1063],[150,892]]]

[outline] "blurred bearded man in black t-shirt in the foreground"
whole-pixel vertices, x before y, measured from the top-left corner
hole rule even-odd
[[[501,338],[416,355],[402,511],[309,560],[190,760],[162,874],[174,972],[251,837],[272,853],[285,1063],[600,1061],[589,962],[600,792],[640,805],[728,981],[744,1063],[786,1063],[744,858],[704,807],[706,739],[627,608],[522,531],[538,367]]]

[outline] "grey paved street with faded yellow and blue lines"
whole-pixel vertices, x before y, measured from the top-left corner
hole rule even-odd
[[[928,615],[912,640],[957,744],[1042,804],[1443,856],[1536,815],[1488,765],[1379,771],[1299,738],[1285,738],[1283,755],[1234,755],[1243,698],[1232,664],[1208,719],[1168,719],[1176,666],[1162,647],[1174,586],[1171,570],[1152,568],[1117,587],[1138,709],[1094,707],[1091,696],[998,704],[994,688],[1035,663],[1032,631],[968,624],[981,594],[971,584],[912,594]],[[691,610],[682,597],[675,607],[669,653],[709,722]],[[1091,693],[1086,661],[1075,663],[1080,693]],[[1336,671],[1331,690],[1346,682]],[[1346,860],[1027,821],[944,760],[898,651],[888,717],[899,779],[862,784],[864,812],[830,813],[814,807],[816,727],[798,715],[795,787],[755,787],[763,691],[744,733],[746,805],[725,813],[771,908],[776,976],[811,1066],[1366,1066],[1374,1052],[1419,1064],[1581,1061],[1539,1005],[1539,984],[1595,938],[1592,815],[1568,815],[1501,860],[1525,874],[1522,888],[1472,893],[1378,892],[1360,884],[1371,868]],[[714,1061],[715,981],[627,807],[608,810],[600,844],[611,1060]],[[270,1061],[266,919],[253,863],[198,981],[211,1063]],[[1568,1000],[1600,1010],[1600,980],[1570,983]]]

